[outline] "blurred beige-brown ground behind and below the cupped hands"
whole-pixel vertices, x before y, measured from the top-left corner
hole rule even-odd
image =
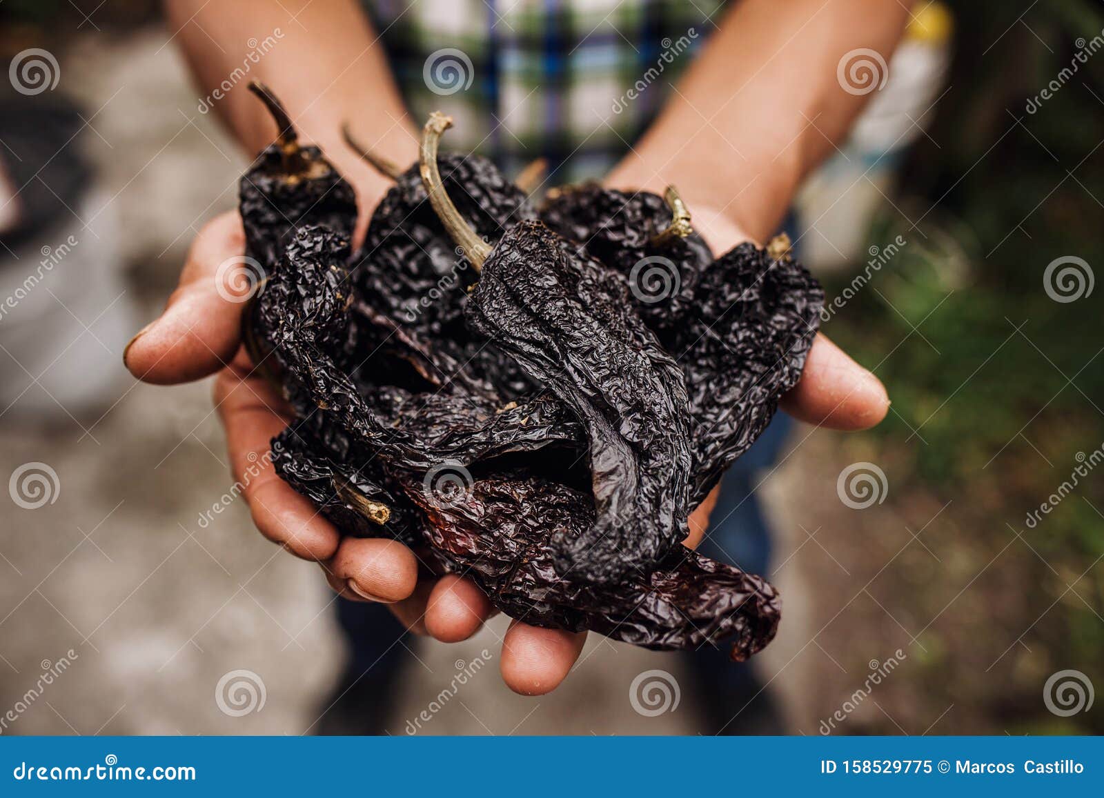
[[[127,297],[148,319],[195,228],[233,206],[244,159],[215,120],[195,109],[163,34],[118,46],[104,39],[63,62],[64,85],[83,98],[94,128],[84,138],[104,199],[89,226],[117,223]],[[96,322],[84,323],[89,329],[81,334],[94,336]],[[117,358],[104,368],[118,372],[117,387],[98,413],[57,413],[50,425],[0,417],[0,475],[42,461],[60,486],[53,503],[33,510],[9,503],[0,514],[0,714],[13,707],[17,715],[2,732],[308,732],[342,661],[335,599],[318,568],[265,542],[241,501],[200,523],[232,485],[209,384],[137,385]],[[15,379],[36,390],[30,375]],[[46,396],[42,402],[51,405]],[[822,732],[822,721],[849,700],[856,705],[831,731],[956,731],[953,701],[907,693],[935,656],[925,643],[932,615],[967,592],[977,563],[930,567],[955,556],[927,549],[936,530],[954,533],[936,500],[899,503],[891,491],[884,504],[863,511],[840,502],[837,476],[862,459],[861,443],[845,447],[839,436],[799,428],[793,444],[763,486],[778,536],[771,578],[785,599],[779,637],[758,661],[767,689],[795,733]],[[1030,556],[1021,549],[1008,556]],[[901,581],[907,578],[927,581],[931,611],[914,611],[907,592],[916,585]],[[960,606],[972,607],[968,595]],[[418,646],[390,731],[403,734],[427,709],[431,734],[703,731],[702,696],[676,657],[596,636],[561,690],[513,695],[497,677],[503,627],[499,618],[468,642]],[[1013,639],[1001,638],[997,652]],[[1006,658],[1008,667],[1013,659]],[[854,702],[856,690],[890,660],[893,670],[870,700]],[[64,672],[38,690],[42,673],[62,661]],[[455,700],[432,709],[476,661],[480,669]],[[634,711],[630,687],[654,669],[672,673],[683,700],[647,716]],[[906,670],[912,675],[896,675]],[[252,703],[247,691],[240,693],[251,711],[232,704],[227,712],[225,694],[217,698],[221,681],[252,687]]]

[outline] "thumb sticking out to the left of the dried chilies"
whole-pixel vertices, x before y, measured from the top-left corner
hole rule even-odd
[[[131,374],[144,382],[170,385],[199,380],[226,365],[237,351],[247,299],[233,290],[241,287],[238,280],[245,281],[240,273],[244,252],[245,233],[236,212],[204,225],[161,316],[123,352]]]

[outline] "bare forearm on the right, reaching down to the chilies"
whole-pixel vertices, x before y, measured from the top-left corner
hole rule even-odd
[[[608,182],[675,183],[691,211],[764,240],[868,98],[840,86],[840,58],[868,47],[888,61],[907,19],[891,0],[744,0]]]

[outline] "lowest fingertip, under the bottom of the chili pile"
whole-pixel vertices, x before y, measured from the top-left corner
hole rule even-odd
[[[502,639],[502,681],[522,695],[551,692],[571,671],[584,642],[585,631],[542,629],[514,620]]]

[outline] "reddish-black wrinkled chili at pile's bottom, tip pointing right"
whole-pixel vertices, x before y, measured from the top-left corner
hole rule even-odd
[[[620,583],[564,578],[554,540],[585,534],[595,515],[588,493],[560,482],[511,472],[477,479],[450,501],[420,486],[411,497],[426,512],[443,567],[474,579],[496,607],[527,624],[591,629],[652,649],[729,639],[735,660],[777,630],[781,603],[771,585],[682,546]]]

